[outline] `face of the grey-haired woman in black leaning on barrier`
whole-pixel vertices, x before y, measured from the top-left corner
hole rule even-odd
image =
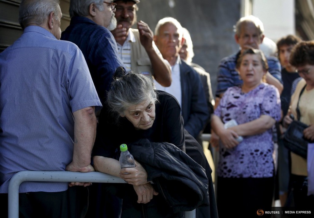
[[[128,107],[120,115],[126,117],[136,129],[147,130],[153,126],[155,120],[155,103],[151,99],[143,101]]]

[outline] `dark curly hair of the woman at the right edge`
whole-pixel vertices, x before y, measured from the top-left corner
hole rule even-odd
[[[314,65],[314,40],[296,44],[291,51],[289,63],[295,67]]]

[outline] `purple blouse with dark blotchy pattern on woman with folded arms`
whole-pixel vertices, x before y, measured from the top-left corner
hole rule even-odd
[[[240,87],[230,87],[220,100],[214,114],[223,123],[234,119],[238,124],[250,122],[261,115],[280,119],[280,97],[278,90],[266,83],[248,93]],[[272,128],[254,136],[244,136],[236,147],[219,148],[218,176],[234,178],[266,178],[273,176]]]

